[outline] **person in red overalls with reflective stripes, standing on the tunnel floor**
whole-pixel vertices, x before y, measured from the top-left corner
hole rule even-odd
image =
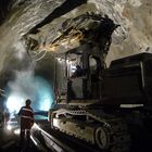
[[[34,125],[34,112],[30,107],[31,101],[29,99],[26,100],[26,105],[22,106],[18,116],[21,121],[21,134],[20,134],[20,147],[24,144],[24,139],[27,139],[27,147],[29,147],[30,142],[30,129]]]

